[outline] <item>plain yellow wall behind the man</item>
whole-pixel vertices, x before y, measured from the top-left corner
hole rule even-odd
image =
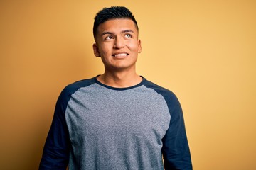
[[[1,169],[37,169],[55,101],[103,72],[92,23],[105,6],[139,23],[137,72],[183,106],[196,170],[256,169],[256,1],[0,1]]]

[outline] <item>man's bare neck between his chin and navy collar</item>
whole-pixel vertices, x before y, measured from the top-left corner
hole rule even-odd
[[[106,72],[99,77],[97,80],[107,86],[124,88],[129,86],[135,86],[142,81],[136,72]]]

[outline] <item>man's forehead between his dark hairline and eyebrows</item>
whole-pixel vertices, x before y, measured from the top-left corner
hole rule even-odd
[[[97,28],[98,35],[104,32],[119,33],[123,30],[133,30],[134,33],[138,32],[134,21],[129,18],[110,19],[101,23]]]

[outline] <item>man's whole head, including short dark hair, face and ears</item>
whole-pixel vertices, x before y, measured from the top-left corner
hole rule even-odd
[[[138,53],[142,52],[138,26],[125,7],[113,6],[97,13],[94,23],[96,57],[101,57],[105,72],[135,71]]]

